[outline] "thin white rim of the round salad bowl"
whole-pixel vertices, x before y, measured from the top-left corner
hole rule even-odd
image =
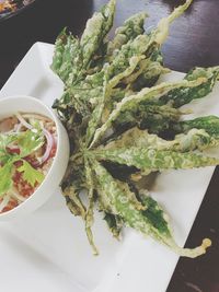
[[[44,188],[46,182],[48,182],[48,179],[50,179],[53,177],[53,172],[54,172],[54,168],[55,168],[55,165],[56,165],[56,161],[58,159],[58,154],[60,153],[60,145],[61,145],[61,142],[60,142],[60,132],[61,132],[61,121],[58,119],[58,117],[56,116],[55,112],[53,110],[53,108],[50,108],[49,106],[47,106],[45,103],[43,103],[41,100],[36,98],[36,97],[33,97],[33,96],[28,96],[28,95],[11,95],[11,96],[7,96],[7,97],[2,97],[0,98],[0,106],[1,106],[1,103],[5,103],[5,102],[10,102],[11,100],[18,100],[18,98],[23,98],[23,100],[28,100],[28,101],[32,101],[33,103],[38,103],[41,106],[43,106],[50,115],[51,117],[49,117],[50,119],[54,120],[55,125],[56,125],[56,131],[57,131],[57,150],[56,150],[56,154],[54,156],[54,161],[44,178],[44,180],[42,182],[42,184],[35,189],[35,191],[25,200],[23,201],[22,203],[20,203],[19,206],[16,206],[15,208],[7,211],[7,212],[3,212],[3,213],[0,213],[0,219],[3,220],[3,219],[7,219],[8,217],[11,217],[12,213],[15,213],[19,209],[23,209],[25,208],[24,205],[26,205],[26,202],[33,200],[33,197],[37,196],[37,194],[41,194],[42,192],[42,189]],[[36,114],[37,114],[37,110],[36,110]],[[0,119],[1,119],[1,114],[0,114]]]

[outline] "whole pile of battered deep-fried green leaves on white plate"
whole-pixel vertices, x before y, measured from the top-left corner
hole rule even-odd
[[[150,33],[143,28],[148,15],[138,13],[108,40],[115,14],[111,0],[88,21],[80,39],[64,30],[56,40],[51,69],[65,90],[54,108],[71,144],[61,189],[69,210],[84,221],[94,254],[95,207],[115,237],[130,226],[186,257],[205,254],[211,244],[206,238],[198,247],[180,247],[168,214],[149,192],[165,170],[219,164],[205,153],[219,144],[219,118],[184,120],[189,110],[182,107],[212,91],[219,67],[194,68],[183,80],[157,84],[170,72],[161,52],[169,26],[191,3],[185,1]]]

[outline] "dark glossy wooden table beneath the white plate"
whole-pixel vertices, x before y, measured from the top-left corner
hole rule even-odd
[[[0,87],[35,42],[54,43],[64,26],[69,26],[74,34],[80,35],[87,19],[105,2],[106,0],[38,0],[32,9],[0,23]],[[117,2],[115,26],[142,10],[149,12],[147,25],[151,26],[183,1]],[[219,65],[218,15],[218,0],[194,0],[193,7],[172,25],[170,37],[163,46],[165,65],[177,71],[187,71],[194,66]],[[219,168],[212,176],[186,243],[189,246],[196,245],[205,235],[212,240],[214,245],[207,255],[200,258],[180,259],[168,292],[219,292],[218,188]]]

